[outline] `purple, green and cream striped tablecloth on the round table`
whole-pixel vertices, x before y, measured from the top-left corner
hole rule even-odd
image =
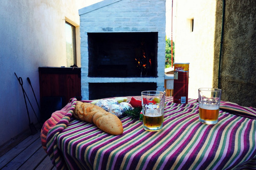
[[[145,131],[142,122],[122,117],[124,132],[114,136],[75,119],[72,99],[44,124],[42,145],[57,169],[256,168],[256,109],[221,102],[219,123],[205,125],[196,100],[165,101],[161,131]]]

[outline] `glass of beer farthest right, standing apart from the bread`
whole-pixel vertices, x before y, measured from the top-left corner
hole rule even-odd
[[[217,124],[221,102],[221,89],[199,88],[198,102],[199,121],[208,125]]]

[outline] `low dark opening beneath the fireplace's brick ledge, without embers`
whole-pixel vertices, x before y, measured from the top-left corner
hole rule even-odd
[[[89,83],[89,100],[141,95],[141,91],[156,89],[156,83]]]

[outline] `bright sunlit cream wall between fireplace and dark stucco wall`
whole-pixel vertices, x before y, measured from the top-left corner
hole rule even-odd
[[[175,62],[189,62],[188,98],[198,98],[198,88],[212,87],[214,69],[216,1],[177,1]],[[194,31],[190,21],[194,18]]]

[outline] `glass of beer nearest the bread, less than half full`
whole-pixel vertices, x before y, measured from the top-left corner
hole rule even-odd
[[[159,131],[163,127],[165,92],[142,91],[141,104],[143,128],[147,131]]]

